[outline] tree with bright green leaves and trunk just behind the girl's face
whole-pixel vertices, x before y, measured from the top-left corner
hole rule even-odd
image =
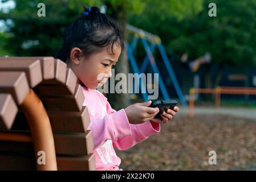
[[[127,41],[127,34],[125,33],[125,24],[128,21],[128,16],[133,15],[135,19],[141,18],[141,13],[144,11],[157,11],[163,14],[163,17],[166,15],[176,16],[178,19],[184,18],[185,15],[192,15],[201,10],[202,0],[195,0],[192,2],[186,0],[168,0],[168,1],[156,1],[156,0],[147,0],[147,1],[129,1],[129,0],[105,0],[103,1],[104,5],[107,6],[107,13],[119,22],[121,29],[123,30],[123,37],[125,42]],[[192,9],[191,9],[192,7]],[[145,16],[144,16],[145,18]],[[148,16],[148,19],[153,18]],[[133,22],[131,22],[133,24]],[[141,22],[145,24],[145,22]],[[141,24],[138,27],[141,27]],[[127,59],[127,53],[123,51],[119,64],[117,64],[115,72],[116,73],[125,73],[128,75],[129,64]],[[109,94],[108,96],[111,104],[114,108],[121,109],[124,106],[128,105],[128,94]]]

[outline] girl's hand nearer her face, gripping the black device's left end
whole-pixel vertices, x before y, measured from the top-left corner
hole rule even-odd
[[[136,103],[126,107],[125,113],[131,124],[140,124],[152,120],[159,112],[159,108],[149,107],[152,101]]]

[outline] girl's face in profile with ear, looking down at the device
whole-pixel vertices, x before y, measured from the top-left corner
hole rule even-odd
[[[70,53],[68,67],[87,88],[96,89],[112,76],[111,68],[117,63],[120,54],[121,47],[114,45],[113,53],[111,47],[106,47],[101,52],[92,53],[85,58],[82,51],[75,47]]]

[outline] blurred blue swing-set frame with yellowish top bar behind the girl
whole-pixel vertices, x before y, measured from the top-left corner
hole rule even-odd
[[[165,53],[164,46],[162,46],[161,39],[159,38],[159,36],[153,35],[149,32],[144,31],[144,30],[133,27],[129,24],[127,24],[126,28],[127,28],[128,33],[131,33],[131,34],[134,35],[132,43],[127,42],[125,44],[125,47],[127,49],[128,59],[129,59],[131,65],[132,65],[133,71],[140,75],[140,73],[145,72],[145,69],[147,68],[147,65],[150,64],[152,69],[153,69],[153,72],[159,74],[159,86],[160,86],[161,93],[164,97],[164,100],[170,100],[168,90],[166,90],[166,87],[164,85],[164,81],[162,80],[159,69],[156,65],[155,58],[154,58],[153,53],[152,53],[152,51],[154,51],[154,49],[157,47],[160,51],[162,60],[164,61],[164,64],[165,64],[165,67],[168,71],[169,77],[173,82],[174,88],[176,89],[178,98],[179,98],[182,106],[187,107],[185,98],[184,98],[184,96],[182,94],[182,91],[180,89],[180,85],[178,84],[176,76],[174,75],[172,66],[170,65],[170,61],[168,60],[168,57]],[[136,48],[136,45],[137,45],[137,42],[138,42],[139,38],[140,38],[141,42],[143,43],[143,47],[145,49],[145,52],[147,53],[147,56],[145,57],[145,59],[143,61],[143,64],[141,65],[140,69],[137,66],[135,57],[133,56],[133,51]],[[148,41],[151,43],[150,47],[149,47]],[[139,83],[139,81],[138,81],[138,83]],[[141,90],[145,90],[145,85],[144,85],[143,82],[141,82],[141,85],[139,85],[139,86],[140,86]],[[144,100],[148,101],[148,94],[147,93],[142,93],[142,95],[143,95]]]

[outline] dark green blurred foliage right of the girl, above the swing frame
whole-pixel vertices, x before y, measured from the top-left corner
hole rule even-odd
[[[188,2],[193,4],[195,1]],[[211,2],[217,5],[217,17],[208,15]],[[202,9],[200,2],[193,6],[200,13],[193,13],[193,8],[188,8],[190,15],[183,19],[165,13],[168,6],[160,4],[158,8],[149,3],[140,18],[130,15],[128,21],[159,35],[169,54],[174,52],[180,57],[188,52],[190,59],[196,59],[209,51],[213,63],[234,67],[256,65],[256,1],[205,0]],[[154,11],[153,6],[157,7]],[[175,9],[178,10],[177,5]]]

